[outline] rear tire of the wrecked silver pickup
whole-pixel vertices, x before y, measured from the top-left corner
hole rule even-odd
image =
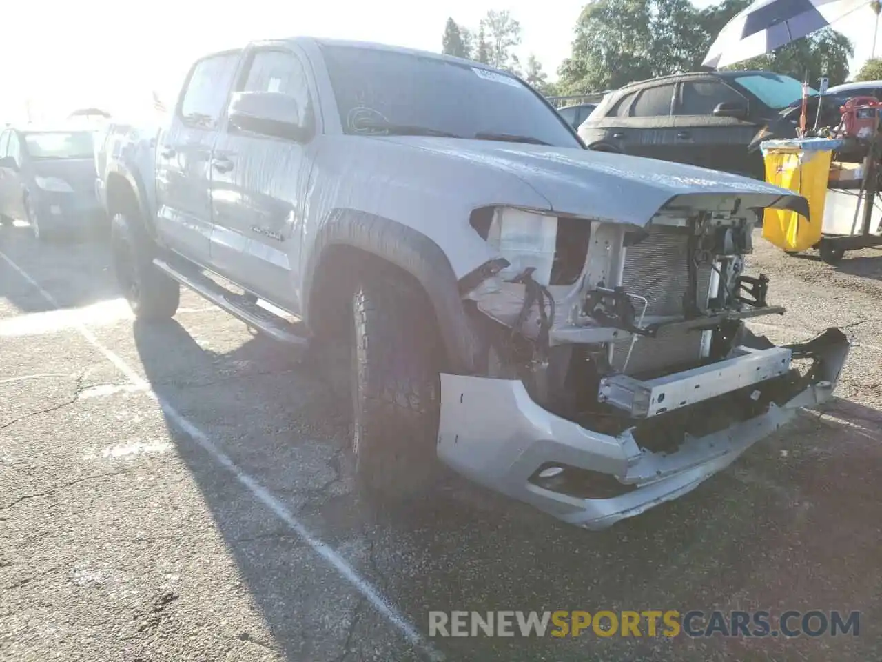
[[[166,320],[177,312],[181,287],[153,265],[156,244],[137,219],[115,214],[110,228],[116,282],[139,320]]]

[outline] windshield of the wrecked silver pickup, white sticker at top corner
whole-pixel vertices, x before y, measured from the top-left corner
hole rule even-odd
[[[512,76],[392,50],[324,45],[322,51],[346,133],[382,132],[377,127],[385,124],[581,147],[557,112]]]

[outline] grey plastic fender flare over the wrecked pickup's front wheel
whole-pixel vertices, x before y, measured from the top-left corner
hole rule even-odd
[[[308,320],[313,278],[333,246],[350,246],[385,260],[415,277],[435,311],[450,369],[475,373],[480,343],[469,323],[450,260],[430,237],[384,216],[335,209],[318,230],[303,275],[303,315]]]

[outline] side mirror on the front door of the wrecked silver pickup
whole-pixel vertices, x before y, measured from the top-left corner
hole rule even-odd
[[[297,100],[278,92],[237,92],[229,103],[229,122],[237,129],[273,138],[306,142],[311,123],[301,117]]]

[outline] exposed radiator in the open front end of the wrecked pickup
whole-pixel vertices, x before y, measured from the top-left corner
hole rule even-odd
[[[631,294],[646,297],[647,315],[683,314],[683,297],[689,284],[687,272],[688,237],[684,234],[653,233],[639,244],[629,246],[624,254],[622,285]],[[712,269],[699,265],[699,307],[704,308]],[[641,302],[634,301],[639,316]],[[623,370],[631,340],[613,346],[612,365]],[[701,356],[701,332],[666,332],[654,338],[638,337],[634,343],[626,374],[654,372],[689,364]]]

